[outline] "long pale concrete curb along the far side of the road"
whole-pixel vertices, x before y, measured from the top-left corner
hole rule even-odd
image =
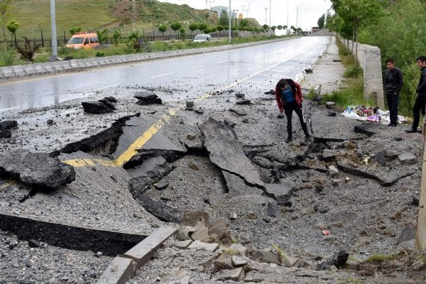
[[[295,37],[296,38],[296,37]],[[169,50],[157,53],[136,53],[131,55],[113,55],[103,58],[84,58],[57,62],[33,63],[27,65],[13,65],[0,67],[0,80],[11,80],[21,77],[39,76],[46,74],[58,74],[63,72],[75,72],[90,68],[125,64],[128,62],[141,62],[146,60],[173,58],[183,55],[196,55],[202,53],[212,53],[235,48],[246,48],[253,45],[275,43],[293,38],[279,38],[275,40],[263,40],[255,43],[239,43],[236,45],[220,45],[211,48],[192,48],[183,50]]]

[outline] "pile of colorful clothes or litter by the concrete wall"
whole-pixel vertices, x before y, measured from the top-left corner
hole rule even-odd
[[[391,122],[389,111],[382,111],[378,107],[348,106],[340,115],[348,119],[374,121],[381,124],[389,124]],[[398,116],[398,122],[405,122],[405,117]]]

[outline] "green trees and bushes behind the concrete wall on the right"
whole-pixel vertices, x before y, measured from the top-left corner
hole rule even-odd
[[[426,55],[426,2],[422,0],[332,0],[334,15],[328,13],[327,28],[344,38],[381,49],[383,75],[386,59],[394,58],[403,71],[399,114],[413,115],[420,71],[415,60]]]

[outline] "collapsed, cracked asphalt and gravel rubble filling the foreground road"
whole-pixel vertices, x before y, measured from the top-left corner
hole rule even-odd
[[[211,84],[202,94],[178,80],[129,84],[2,117],[18,126],[0,138],[2,156],[45,153],[75,170],[75,180],[49,190],[3,173],[6,280],[94,283],[113,256],[159,226],[180,224],[187,209],[229,220],[227,234],[241,244],[276,245],[311,263],[340,250],[363,260],[399,248],[417,214],[422,136],[329,116],[305,101],[312,140],[295,119],[293,142],[285,143],[285,119],[275,95],[265,94],[278,75]],[[138,104],[143,92],[163,103]],[[240,94],[249,104],[236,104]],[[105,97],[116,99],[115,110],[84,112],[82,102]],[[204,111],[185,110],[189,100]],[[44,163],[31,160],[39,169]]]

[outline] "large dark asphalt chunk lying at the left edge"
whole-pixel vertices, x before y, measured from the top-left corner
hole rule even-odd
[[[18,178],[27,185],[43,188],[58,188],[75,180],[71,165],[61,163],[48,153],[16,151],[0,155],[0,175]]]

